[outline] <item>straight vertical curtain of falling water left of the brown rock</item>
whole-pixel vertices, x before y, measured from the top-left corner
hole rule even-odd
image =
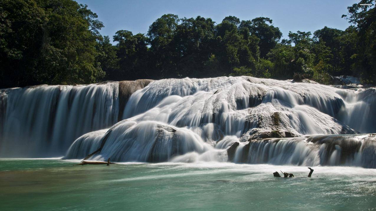
[[[118,82],[0,90],[0,156],[64,155],[82,134],[118,118]]]

